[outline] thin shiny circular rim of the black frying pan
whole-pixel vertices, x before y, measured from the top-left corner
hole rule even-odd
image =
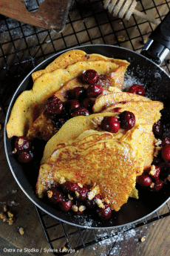
[[[137,219],[135,221],[132,221],[130,223],[125,223],[125,224],[122,224],[122,225],[119,225],[119,226],[106,226],[106,227],[96,227],[96,226],[84,226],[84,225],[78,225],[77,223],[70,223],[68,222],[67,220],[63,220],[59,217],[56,217],[54,214],[50,213],[49,211],[47,211],[46,209],[43,208],[43,205],[45,204],[47,206],[46,203],[42,202],[41,200],[38,199],[37,197],[37,200],[38,202],[40,203],[37,203],[31,196],[30,194],[27,193],[27,191],[25,191],[25,189],[23,188],[23,186],[21,185],[21,183],[18,181],[18,178],[16,177],[16,174],[14,173],[13,171],[13,167],[10,163],[10,159],[9,159],[9,154],[7,152],[7,133],[6,133],[6,125],[7,125],[7,121],[9,119],[9,116],[10,116],[10,111],[12,109],[12,106],[15,102],[15,99],[16,99],[16,94],[18,93],[18,90],[21,88],[21,86],[24,84],[24,82],[30,78],[31,74],[33,72],[35,72],[35,70],[40,70],[40,67],[42,65],[45,65],[47,62],[50,62],[50,60],[54,60],[57,56],[60,56],[62,53],[64,52],[67,52],[68,50],[73,50],[73,49],[79,49],[79,48],[84,48],[84,47],[114,47],[114,48],[118,48],[118,49],[123,49],[123,50],[126,50],[126,51],[129,51],[129,52],[132,52],[133,54],[135,53],[136,55],[139,55],[140,57],[142,56],[140,53],[136,53],[135,51],[133,50],[129,50],[129,49],[126,49],[124,47],[119,47],[119,46],[115,46],[115,45],[84,45],[84,46],[78,46],[78,47],[70,47],[68,49],[65,49],[65,50],[62,50],[62,51],[58,51],[58,53],[55,53],[54,55],[50,56],[49,58],[47,59],[44,59],[43,62],[39,63],[35,68],[33,68],[33,70],[30,71],[30,73],[27,74],[27,76],[20,82],[20,84],[18,85],[18,88],[16,89],[15,93],[13,94],[13,97],[12,99],[10,100],[10,105],[7,109],[7,114],[6,114],[6,117],[5,117],[5,122],[4,122],[4,149],[5,149],[5,154],[6,154],[6,157],[7,157],[7,162],[10,166],[10,171],[12,172],[13,174],[13,177],[15,178],[16,182],[18,183],[18,186],[21,188],[21,190],[24,192],[24,194],[27,195],[27,197],[35,204],[35,206],[37,206],[39,209],[41,209],[42,211],[46,212],[47,214],[50,214],[50,216],[54,217],[55,219],[57,220],[60,220],[61,222],[64,222],[64,223],[67,223],[69,225],[72,225],[72,226],[78,226],[78,227],[85,227],[87,229],[113,229],[113,228],[120,228],[120,227],[124,227],[124,226],[130,226],[130,225],[133,225],[137,222],[140,222],[141,220],[144,220],[146,217],[149,217],[150,215],[154,214],[157,210],[159,210],[161,207],[163,207],[168,201],[169,201],[169,198],[164,202],[162,203],[159,207],[157,207],[157,209],[155,209],[154,211],[152,211],[151,213],[149,214],[146,214],[146,216],[144,217],[141,217],[140,219]],[[152,60],[148,59],[146,56],[142,56],[144,59],[148,60],[149,62],[152,62],[155,66],[157,66],[157,68],[159,68],[159,70],[163,71],[163,73],[166,74],[166,76],[169,76],[168,73],[166,73],[165,70],[163,70],[163,68],[161,68],[159,65],[157,65],[156,63],[154,63]],[[170,77],[170,76],[169,76]]]

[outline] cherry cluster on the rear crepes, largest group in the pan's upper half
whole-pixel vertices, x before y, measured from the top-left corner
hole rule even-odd
[[[82,82],[89,83],[88,88],[78,86],[67,91],[67,101],[62,102],[55,94],[47,99],[47,112],[58,129],[74,116],[89,116],[89,114],[92,114],[94,98],[103,93],[101,85],[96,83],[98,73],[95,70],[86,70],[81,79]]]

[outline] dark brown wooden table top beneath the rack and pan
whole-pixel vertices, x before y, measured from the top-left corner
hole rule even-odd
[[[141,3],[143,5],[141,5]],[[24,66],[25,62],[26,60],[28,63],[33,62],[33,59],[30,60],[28,56],[34,56],[33,65],[37,65],[41,62],[41,60],[44,59],[44,55],[47,57],[54,53],[54,50],[52,52],[54,45],[55,52],[58,50],[63,50],[66,48],[66,45],[67,47],[72,47],[76,44],[85,45],[96,43],[120,45],[135,51],[140,51],[141,47],[143,47],[143,41],[148,38],[152,28],[155,27],[153,24],[149,24],[149,22],[143,22],[143,20],[140,18],[135,19],[132,17],[129,22],[127,22],[120,19],[114,19],[111,15],[106,16],[106,12],[104,13],[104,16],[101,1],[84,0],[81,3],[80,1],[77,1],[77,4],[78,8],[73,7],[72,10],[69,11],[67,24],[63,32],[60,34],[55,33],[55,31],[49,32],[47,30],[36,30],[38,31],[36,32],[35,29],[33,30],[33,27],[20,24],[18,27],[20,28],[22,35],[25,35],[21,37],[19,34],[20,32],[18,32],[18,27],[12,27],[12,25],[16,24],[16,22],[13,22],[12,20],[9,21],[8,19],[4,22],[2,19],[4,28],[1,25],[1,29],[4,29],[4,33],[1,34],[1,52],[4,54],[4,56],[7,56],[7,58],[3,59],[0,56],[0,67],[5,67],[4,63],[8,64],[9,67],[12,67],[10,68],[10,74],[13,74],[12,70],[13,68],[18,67],[18,59],[21,58],[19,63],[22,65],[22,70],[24,70],[24,73],[28,73],[30,69],[27,69],[27,65]],[[88,10],[90,4],[95,4],[95,9],[92,9],[93,11],[91,9]],[[146,13],[155,18],[158,17],[157,12],[161,16],[166,15],[169,10],[169,6],[170,2],[163,0],[154,0],[149,2],[140,1],[137,5],[138,10],[143,10],[142,8],[144,7],[144,9],[147,10]],[[106,18],[109,19],[109,22],[106,22]],[[7,28],[5,28],[5,26]],[[42,38],[43,36],[44,38]],[[118,36],[121,38],[119,42]],[[11,40],[11,37],[13,40]],[[22,39],[25,40],[25,44],[27,42],[25,48],[23,47],[24,42],[22,42]],[[11,52],[13,48],[15,54],[13,55],[10,53],[10,55],[8,55],[8,52]],[[15,63],[16,65],[13,65]],[[28,68],[31,67],[28,66]],[[3,70],[5,71],[5,68],[3,68]],[[18,71],[18,73],[19,72],[21,71]],[[18,73],[16,74],[18,75]],[[1,73],[1,76],[3,75],[7,76],[7,73]],[[15,81],[19,82],[19,76],[18,78],[15,76],[15,79]],[[6,80],[4,79],[4,81]],[[4,88],[3,85],[5,85]],[[7,106],[13,91],[15,91],[14,89],[15,88],[11,89],[12,91],[10,91],[10,96],[8,97],[6,94],[3,94],[4,91],[7,90],[7,85],[2,84],[1,95],[3,96],[3,105]],[[12,225],[0,220],[0,237],[7,241],[6,246],[1,246],[0,242],[0,255],[53,255],[52,252],[47,251],[50,249],[50,246],[47,242],[47,237],[44,234],[44,230],[42,229],[35,206],[27,198],[24,192],[21,191],[21,188],[16,183],[16,180],[14,179],[7,163],[4,153],[4,116],[2,111],[0,111],[0,124],[0,212],[3,211],[4,206],[7,206],[16,217],[16,222]],[[169,209],[167,205],[165,205],[159,210],[159,215],[161,216],[167,212],[169,213]],[[52,225],[52,223],[55,223],[56,220],[50,216],[47,216],[47,222]],[[72,252],[70,254],[76,256],[169,256],[169,222],[170,216],[167,216],[160,218],[160,220],[154,220],[151,223],[146,223],[145,225],[137,228],[132,227],[129,232],[126,231],[126,229],[123,229],[121,232],[118,232],[118,235],[114,235],[112,238],[103,240],[100,243],[95,243],[91,246],[86,246],[84,249],[79,249],[78,252]],[[23,235],[19,234],[18,232],[18,228],[20,227],[24,228]],[[70,226],[69,229],[73,230],[75,227],[73,228]],[[60,232],[61,231],[58,229],[53,229],[51,235],[56,237]],[[114,233],[114,230],[110,232]],[[92,233],[89,230],[84,233],[86,239],[91,235]],[[143,242],[141,241],[142,237],[145,238]],[[78,242],[76,239],[78,239],[78,237],[75,237],[75,243]],[[58,251],[59,249],[62,249],[63,244],[65,243],[64,241],[65,238],[63,240],[57,240],[55,243],[55,249],[58,249]]]

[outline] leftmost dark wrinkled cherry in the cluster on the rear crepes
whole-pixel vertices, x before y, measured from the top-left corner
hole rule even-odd
[[[63,109],[63,102],[61,102],[55,95],[47,99],[46,108],[48,113],[58,115]]]

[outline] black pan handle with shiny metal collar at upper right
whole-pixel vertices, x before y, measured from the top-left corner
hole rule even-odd
[[[170,11],[149,36],[141,54],[160,65],[170,51]]]

